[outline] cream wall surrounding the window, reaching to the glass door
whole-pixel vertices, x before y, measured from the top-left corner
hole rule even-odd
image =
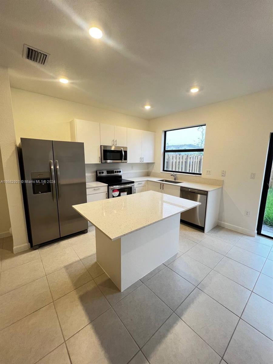
[[[198,97],[198,95],[196,95]],[[150,120],[156,132],[155,172],[161,171],[162,130],[206,124],[202,177],[223,179],[219,221],[249,233],[256,230],[269,135],[273,132],[272,90]],[[226,177],[221,177],[226,170]],[[256,173],[250,179],[250,173]],[[250,216],[244,215],[250,210]]]

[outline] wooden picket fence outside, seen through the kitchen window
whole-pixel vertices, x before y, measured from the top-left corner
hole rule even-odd
[[[165,170],[189,173],[201,173],[203,155],[174,154],[165,155]]]

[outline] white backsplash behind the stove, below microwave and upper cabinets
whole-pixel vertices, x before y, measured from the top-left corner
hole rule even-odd
[[[96,181],[96,170],[100,169],[122,169],[123,178],[149,176],[153,170],[154,163],[98,163],[86,164],[86,182]]]

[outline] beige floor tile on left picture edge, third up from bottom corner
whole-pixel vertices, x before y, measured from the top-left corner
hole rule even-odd
[[[7,293],[43,276],[45,273],[40,259],[5,270],[5,272],[1,272],[0,276],[0,294]]]

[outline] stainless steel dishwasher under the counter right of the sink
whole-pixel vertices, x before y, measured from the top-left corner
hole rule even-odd
[[[201,205],[181,213],[181,220],[194,225],[205,227],[207,192],[193,188],[180,187],[180,197],[187,200],[201,202]]]

